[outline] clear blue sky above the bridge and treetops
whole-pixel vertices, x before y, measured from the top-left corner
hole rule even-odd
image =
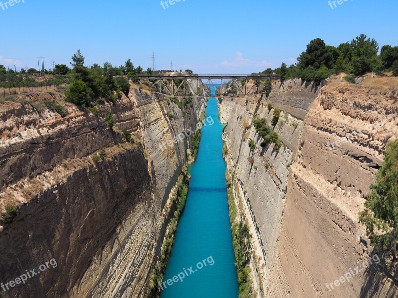
[[[0,6],[0,64],[37,68],[44,56],[48,69],[80,49],[86,65],[131,58],[146,69],[154,51],[158,70],[173,61],[198,74],[246,74],[293,64],[317,37],[338,45],[365,33],[398,45],[397,0],[341,1],[181,0],[164,9],[160,0],[20,0]]]

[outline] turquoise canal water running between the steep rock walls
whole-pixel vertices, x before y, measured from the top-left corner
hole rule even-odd
[[[161,298],[238,297],[222,157],[223,125],[215,98],[208,101],[209,116],[214,124],[202,128],[198,157],[189,168],[192,177],[187,204],[178,224]],[[172,283],[173,277],[177,282]]]

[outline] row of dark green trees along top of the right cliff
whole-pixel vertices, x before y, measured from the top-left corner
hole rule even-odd
[[[331,74],[352,74],[360,76],[369,72],[382,74],[393,72],[398,75],[398,46],[384,45],[379,53],[379,44],[365,34],[339,46],[326,45],[316,38],[309,42],[297,58],[298,63],[288,67],[282,63],[277,69],[268,68],[260,74],[279,74],[281,80],[301,78],[319,84]]]

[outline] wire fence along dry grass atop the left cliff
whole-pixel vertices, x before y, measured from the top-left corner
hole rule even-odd
[[[45,92],[55,90],[59,87],[68,87],[69,83],[66,82],[47,82],[47,81],[36,81],[36,82],[18,82],[14,84],[8,84],[8,86],[0,87],[0,98],[6,98],[10,95],[18,95],[28,92]]]

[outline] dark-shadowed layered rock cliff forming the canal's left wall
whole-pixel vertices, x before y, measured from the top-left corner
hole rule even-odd
[[[143,297],[169,221],[166,202],[187,161],[188,138],[173,139],[196,126],[204,103],[183,112],[132,88],[100,104],[100,117],[63,103],[62,118],[42,104],[54,98],[0,104],[0,210],[18,206],[0,227],[0,283],[9,288],[0,296]],[[113,131],[101,120],[109,111]],[[100,150],[106,156],[95,162]],[[56,266],[10,287],[52,259]]]

